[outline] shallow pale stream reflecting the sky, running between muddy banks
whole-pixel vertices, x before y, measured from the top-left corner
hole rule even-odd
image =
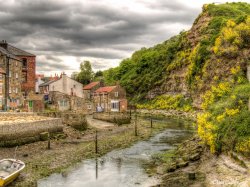
[[[68,174],[53,174],[38,181],[38,187],[127,187],[152,186],[159,181],[148,177],[142,164],[151,155],[174,148],[191,135],[187,124],[166,121],[169,129],[130,148],[114,150],[101,158],[85,160]],[[187,128],[188,127],[188,128]]]

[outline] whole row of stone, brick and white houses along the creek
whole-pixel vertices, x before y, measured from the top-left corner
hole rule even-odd
[[[36,75],[35,55],[0,42],[0,110],[40,112],[45,106],[84,113],[124,112],[127,99],[119,84],[104,86],[100,81],[82,85],[64,73],[49,78]]]

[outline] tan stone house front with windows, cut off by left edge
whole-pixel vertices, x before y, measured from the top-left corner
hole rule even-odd
[[[0,45],[0,110],[23,105],[22,60]]]

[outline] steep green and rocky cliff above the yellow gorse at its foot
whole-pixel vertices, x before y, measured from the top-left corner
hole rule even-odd
[[[212,86],[246,78],[249,54],[250,4],[210,4],[189,31],[136,51],[104,76],[120,81],[132,101],[181,94],[200,108]]]

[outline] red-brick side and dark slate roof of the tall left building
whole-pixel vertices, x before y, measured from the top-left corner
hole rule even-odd
[[[22,61],[21,90],[26,97],[30,91],[35,92],[36,56],[22,49],[16,48],[6,41],[0,42],[0,47]]]

